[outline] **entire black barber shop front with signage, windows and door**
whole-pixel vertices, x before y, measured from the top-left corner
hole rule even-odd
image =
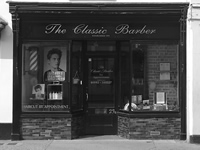
[[[187,4],[9,5],[13,140],[185,138]]]

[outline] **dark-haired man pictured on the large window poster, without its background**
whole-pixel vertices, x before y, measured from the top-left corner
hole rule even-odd
[[[49,70],[44,73],[44,81],[62,81],[65,78],[65,71],[60,68],[60,60],[62,51],[58,48],[53,48],[47,53],[47,62]]]

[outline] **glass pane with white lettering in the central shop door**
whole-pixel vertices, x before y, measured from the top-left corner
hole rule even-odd
[[[110,57],[88,59],[89,107],[113,107],[115,98],[115,62]]]

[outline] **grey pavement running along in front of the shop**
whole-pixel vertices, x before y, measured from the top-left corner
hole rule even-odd
[[[200,150],[181,140],[129,140],[118,136],[88,136],[75,140],[0,140],[0,150]]]

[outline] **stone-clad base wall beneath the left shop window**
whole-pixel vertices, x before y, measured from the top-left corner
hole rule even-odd
[[[73,139],[84,132],[84,117],[41,117],[21,119],[21,138],[24,140]]]

